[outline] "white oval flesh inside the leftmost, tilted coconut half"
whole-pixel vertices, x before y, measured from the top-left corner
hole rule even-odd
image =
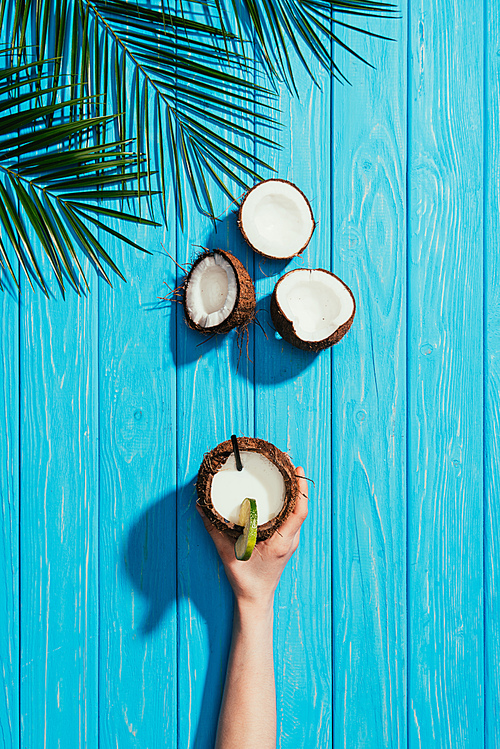
[[[233,311],[238,284],[233,267],[219,253],[207,255],[192,270],[186,288],[186,308],[202,328],[224,322]]]

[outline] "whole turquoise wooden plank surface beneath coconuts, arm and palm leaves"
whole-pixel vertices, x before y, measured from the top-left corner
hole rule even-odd
[[[278,746],[499,745],[498,8],[400,7],[397,42],[351,35],[376,70],[280,92],[303,260],[257,259],[234,209],[215,231],[191,203],[181,231],[171,200],[168,231],[127,227],[152,257],[108,239],[127,284],[0,296],[0,746],[213,745],[232,603],[193,481],[233,432],[314,480],[276,600]],[[238,369],[233,334],[199,346],[158,300],[197,244],[256,280],[268,339]],[[269,327],[302,264],[358,305],[317,357]]]

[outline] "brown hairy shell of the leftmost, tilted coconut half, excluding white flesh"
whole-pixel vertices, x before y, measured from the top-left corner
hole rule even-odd
[[[226,260],[229,265],[232,267],[234,271],[234,275],[236,277],[236,300],[234,303],[234,307],[231,311],[231,313],[226,317],[225,320],[223,320],[219,325],[212,325],[209,328],[203,327],[202,325],[198,325],[195,323],[192,318],[189,316],[189,312],[186,305],[186,289],[189,285],[189,279],[192,276],[192,273],[196,266],[201,263],[202,260],[204,260],[206,257],[210,257],[218,253],[219,255],[222,255],[224,260]],[[243,265],[243,263],[238,260],[237,257],[232,255],[230,252],[227,252],[226,250],[206,250],[203,252],[199,257],[196,258],[195,262],[191,266],[191,269],[188,273],[188,275],[185,278],[184,284],[183,284],[183,296],[182,296],[182,306],[184,307],[184,315],[186,317],[186,322],[189,325],[190,328],[193,330],[197,330],[200,333],[229,333],[230,330],[233,328],[240,328],[245,327],[248,325],[249,322],[251,322],[255,317],[255,287],[253,285],[253,281],[250,278],[247,269]]]

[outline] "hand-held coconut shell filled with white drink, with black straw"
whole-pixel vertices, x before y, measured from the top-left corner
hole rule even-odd
[[[233,445],[221,442],[203,458],[196,490],[208,519],[221,531],[238,538],[241,503],[247,497],[257,502],[257,541],[270,538],[295,507],[299,483],[286,453],[270,442],[239,437],[243,469],[237,470]]]

